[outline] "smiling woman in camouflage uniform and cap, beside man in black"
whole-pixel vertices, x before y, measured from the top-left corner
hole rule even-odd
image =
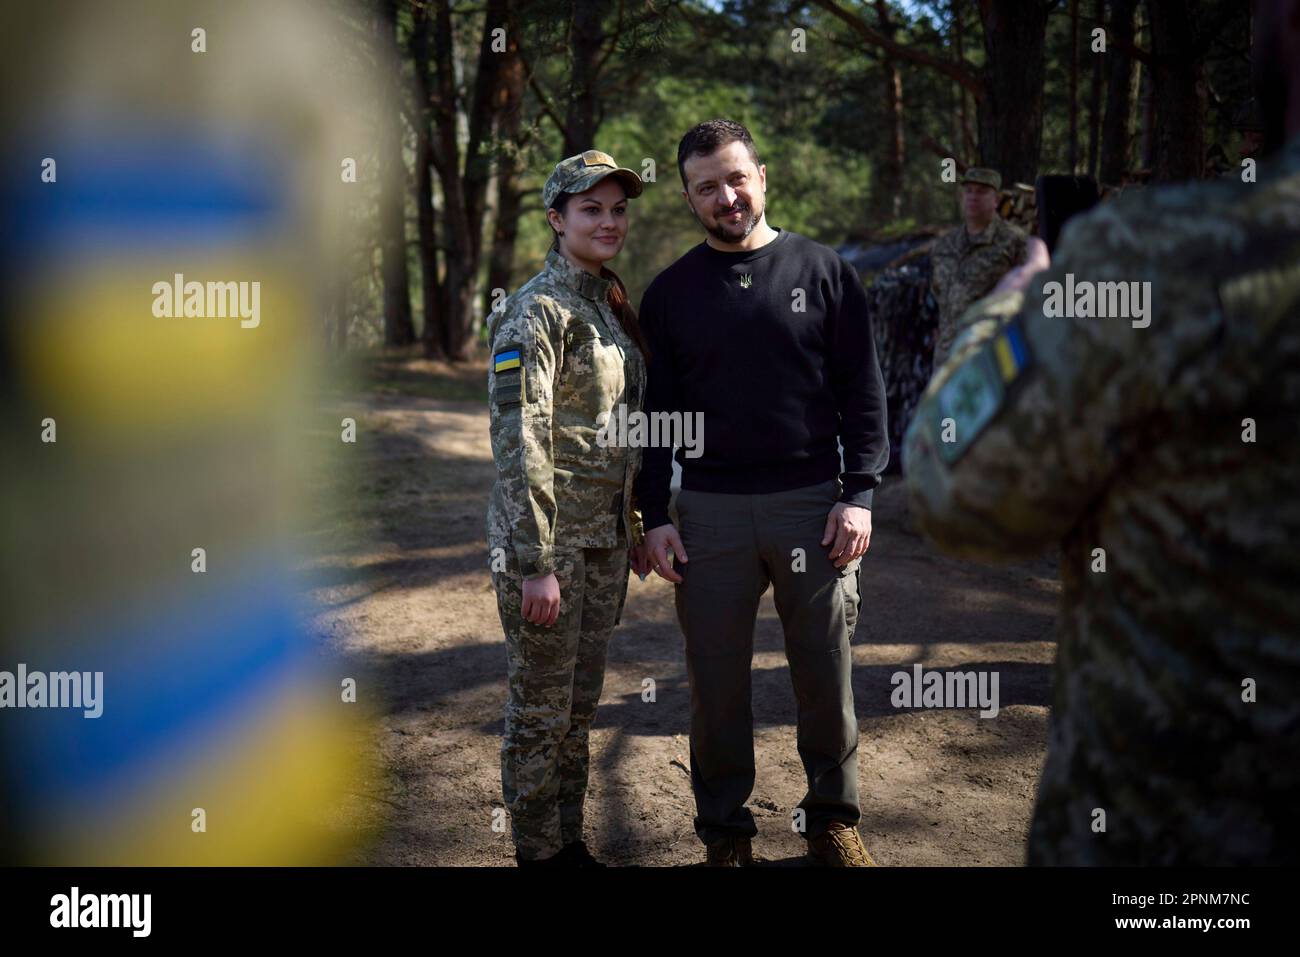
[[[649,571],[632,481],[640,450],[607,441],[638,411],[646,367],[623,282],[603,263],[627,237],[641,178],[598,150],[542,189],[555,244],[542,272],[491,316],[488,547],[506,631],[500,752],[515,859],[602,866],[582,843],[588,733],[628,563]]]

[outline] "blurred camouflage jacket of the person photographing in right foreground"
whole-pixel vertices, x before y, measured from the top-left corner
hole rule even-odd
[[[1080,281],[1150,282],[1149,325],[1048,316]],[[1030,862],[1294,862],[1300,137],[1256,183],[1075,218],[1023,296],[970,313],[904,467],[946,550],[1062,549]]]

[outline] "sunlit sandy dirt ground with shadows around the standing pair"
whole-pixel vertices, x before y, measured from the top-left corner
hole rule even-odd
[[[334,518],[315,537],[315,627],[360,675],[377,719],[367,744],[382,772],[358,781],[356,813],[378,813],[364,865],[512,865],[499,744],[506,649],[486,568],[494,480],[488,412],[369,391],[322,400],[358,420],[358,467],[333,477]],[[862,835],[880,865],[1023,863],[1050,702],[1056,567],[949,559],[911,529],[905,489],[876,493],[853,641]],[[890,675],[996,671],[1001,710],[896,709]],[[642,701],[642,681],[656,687]],[[754,653],[758,779],[754,852],[803,865],[790,826],[805,779],[794,696],[771,592]],[[696,865],[688,776],[689,688],[672,585],[632,577],[592,736],[586,840],[614,865]]]

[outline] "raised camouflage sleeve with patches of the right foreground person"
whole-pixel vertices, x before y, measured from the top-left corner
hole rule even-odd
[[[1117,464],[1143,452],[1162,382],[1213,334],[1205,311],[1179,303],[1186,281],[1161,282],[1179,260],[1170,230],[1132,222],[1106,207],[1079,217],[1026,294],[965,313],[904,439],[913,514],[945,550],[1010,559],[1060,541]],[[1084,281],[1147,282],[1145,320],[1062,316]]]

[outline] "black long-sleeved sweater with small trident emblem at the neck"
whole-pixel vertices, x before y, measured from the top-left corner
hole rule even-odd
[[[641,324],[645,411],[703,415],[703,454],[677,452],[684,489],[785,492],[838,475],[841,501],[871,507],[889,459],[884,381],[862,281],[833,250],[789,230],[748,252],[701,243],[650,283]],[[671,478],[672,451],[645,449],[646,529],[668,523]]]

